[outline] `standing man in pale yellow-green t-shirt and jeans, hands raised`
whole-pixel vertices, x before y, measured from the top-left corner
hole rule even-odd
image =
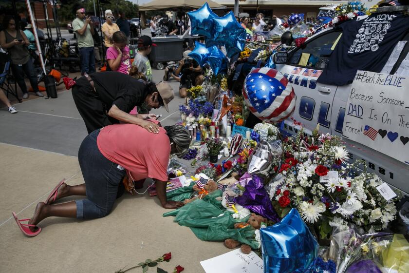
[[[85,9],[76,11],[73,29],[76,33],[79,54],[81,56],[81,75],[95,72],[95,54],[93,43],[93,22],[88,16],[85,21]]]

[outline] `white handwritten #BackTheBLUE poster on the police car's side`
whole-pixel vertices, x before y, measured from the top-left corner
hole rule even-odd
[[[356,72],[343,136],[409,164],[409,77]]]

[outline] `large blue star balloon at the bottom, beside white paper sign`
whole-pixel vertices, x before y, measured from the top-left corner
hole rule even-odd
[[[264,273],[304,273],[318,254],[318,242],[296,209],[260,229]]]

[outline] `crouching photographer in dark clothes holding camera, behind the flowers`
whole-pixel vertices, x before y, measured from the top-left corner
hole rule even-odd
[[[192,86],[201,85],[203,83],[203,70],[199,63],[188,56],[190,50],[183,53],[183,59],[179,61],[179,66],[176,68],[174,75],[181,74],[179,95],[181,98],[186,98],[187,89]]]

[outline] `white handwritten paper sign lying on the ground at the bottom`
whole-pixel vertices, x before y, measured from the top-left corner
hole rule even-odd
[[[206,273],[263,273],[263,260],[240,249],[200,262]]]

